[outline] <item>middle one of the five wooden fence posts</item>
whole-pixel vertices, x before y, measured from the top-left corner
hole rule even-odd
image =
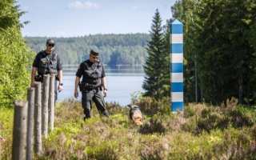
[[[34,153],[42,152],[41,82],[34,82]]]

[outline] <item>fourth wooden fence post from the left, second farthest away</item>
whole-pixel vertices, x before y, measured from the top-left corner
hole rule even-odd
[[[42,135],[48,137],[48,98],[50,74],[43,75],[42,87]]]

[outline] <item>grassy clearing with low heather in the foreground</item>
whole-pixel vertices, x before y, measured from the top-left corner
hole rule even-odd
[[[131,122],[127,107],[107,103],[82,120],[81,103],[66,99],[55,108],[54,132],[42,139],[34,159],[255,159],[256,111],[235,102],[214,107],[188,104],[170,111],[170,99],[139,102],[144,125]],[[13,110],[0,109],[2,159],[11,159]]]

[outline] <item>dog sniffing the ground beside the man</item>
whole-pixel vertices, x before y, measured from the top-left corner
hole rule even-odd
[[[128,105],[130,107],[129,117],[134,120],[138,126],[143,123],[142,112],[136,105]]]

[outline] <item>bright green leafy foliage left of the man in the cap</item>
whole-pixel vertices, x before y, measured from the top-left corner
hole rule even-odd
[[[18,22],[22,14],[14,2],[0,2],[0,104],[9,106],[14,100],[26,99],[30,85],[30,69],[34,53],[26,47]]]

